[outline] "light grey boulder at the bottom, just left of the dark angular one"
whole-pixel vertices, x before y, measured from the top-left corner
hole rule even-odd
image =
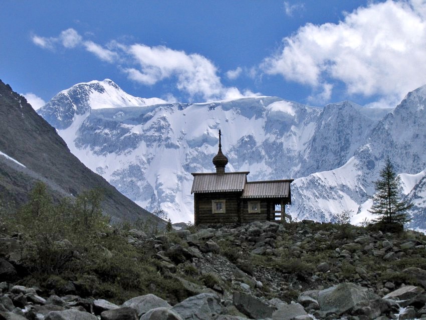
[[[221,313],[220,298],[215,293],[201,293],[173,306],[183,319],[210,320]]]

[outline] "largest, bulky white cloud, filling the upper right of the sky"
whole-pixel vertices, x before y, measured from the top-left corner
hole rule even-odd
[[[260,68],[322,90],[323,99],[343,82],[348,94],[396,101],[426,82],[426,4],[388,0],[346,13],[338,24],[307,24]]]

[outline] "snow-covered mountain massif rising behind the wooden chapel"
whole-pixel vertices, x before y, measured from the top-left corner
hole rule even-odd
[[[300,219],[325,221],[350,209],[357,222],[369,208],[371,181],[387,154],[398,173],[426,168],[425,87],[389,110],[349,101],[320,108],[266,96],[136,103],[140,98],[129,100],[121,89],[108,103],[111,94],[94,89],[99,86],[118,88],[111,80],[78,84],[39,112],[86,166],[140,206],[161,206],[173,222],[193,219],[190,173],[215,170],[219,129],[228,172],[250,171],[250,181],[296,178],[288,209]],[[406,194],[418,190],[417,197],[419,188],[417,183]]]

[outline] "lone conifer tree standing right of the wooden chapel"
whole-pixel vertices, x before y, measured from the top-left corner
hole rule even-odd
[[[374,182],[376,192],[369,212],[379,216],[375,222],[404,224],[409,221],[406,211],[412,204],[401,199],[399,184],[400,178],[387,158],[384,168],[380,171],[380,178]]]

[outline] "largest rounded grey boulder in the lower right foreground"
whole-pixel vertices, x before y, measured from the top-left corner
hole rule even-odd
[[[318,292],[321,310],[342,314],[353,308],[360,301],[376,298],[367,288],[353,283],[340,283]]]

